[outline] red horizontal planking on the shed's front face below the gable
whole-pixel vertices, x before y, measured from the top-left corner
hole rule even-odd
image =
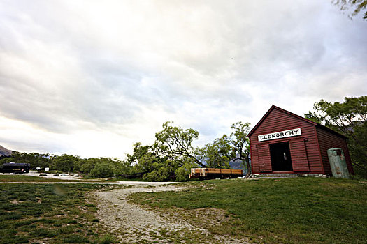
[[[286,137],[282,139],[273,139],[260,143],[257,138],[258,135],[264,135],[283,130],[291,130],[295,128],[301,128],[302,135],[296,137]],[[264,121],[258,126],[257,130],[255,130],[250,136],[250,148],[252,152],[252,172],[254,174],[259,174],[261,171],[268,170],[269,163],[271,167],[270,152],[268,156],[266,156],[268,158],[264,159],[265,155],[259,155],[260,145],[289,142],[292,139],[306,140],[304,144],[305,148],[307,149],[305,150],[307,153],[305,155],[305,158],[307,158],[308,160],[308,169],[306,169],[305,167],[299,167],[299,169],[305,169],[305,171],[309,171],[311,174],[322,174],[322,160],[321,156],[319,155],[317,136],[315,135],[315,125],[299,119],[296,116],[292,116],[291,114],[282,112],[276,108],[269,112],[268,116],[266,116]],[[299,150],[299,148],[293,149],[295,152]],[[303,158],[303,160],[305,160],[305,158]],[[261,165],[263,163],[265,163],[265,165]],[[296,166],[295,168],[297,169],[298,167]]]

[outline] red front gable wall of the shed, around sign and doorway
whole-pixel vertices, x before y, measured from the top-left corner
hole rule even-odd
[[[272,139],[265,142],[258,141],[259,135],[296,128],[301,128],[302,135]],[[250,136],[253,174],[265,173],[266,171],[271,172],[271,156],[268,144],[279,142],[289,142],[292,165],[295,172],[324,173],[315,125],[274,108]]]

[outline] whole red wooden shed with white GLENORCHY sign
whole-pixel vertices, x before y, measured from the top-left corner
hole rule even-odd
[[[329,148],[343,149],[353,174],[345,136],[280,107],[271,106],[247,137],[252,174],[331,175]]]

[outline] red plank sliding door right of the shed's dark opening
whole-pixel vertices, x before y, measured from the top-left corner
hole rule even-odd
[[[291,151],[293,171],[310,171],[303,138],[290,140],[289,149]]]

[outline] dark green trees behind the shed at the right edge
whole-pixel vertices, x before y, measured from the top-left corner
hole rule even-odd
[[[314,109],[316,112],[308,112],[305,117],[345,135],[356,174],[366,177],[367,96],[345,98],[341,103],[322,99],[314,104]]]

